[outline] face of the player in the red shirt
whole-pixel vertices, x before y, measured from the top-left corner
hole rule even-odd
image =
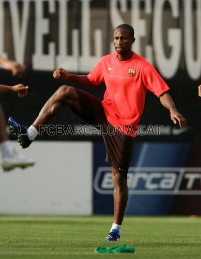
[[[114,31],[113,42],[117,53],[124,54],[131,50],[135,38],[131,37],[127,29],[119,28]]]

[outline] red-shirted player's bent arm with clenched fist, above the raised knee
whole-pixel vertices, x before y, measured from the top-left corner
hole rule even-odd
[[[94,85],[88,80],[87,75],[80,76],[76,74],[70,74],[62,67],[54,71],[53,77],[55,79],[70,80],[85,87],[94,87]]]

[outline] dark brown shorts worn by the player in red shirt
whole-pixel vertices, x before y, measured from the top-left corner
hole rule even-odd
[[[108,122],[99,99],[80,89],[75,88],[75,90],[82,111],[77,112],[71,108],[72,111],[90,125],[101,125],[99,129],[102,131],[106,145],[106,162],[110,163],[124,178],[127,178],[135,139],[122,134]],[[113,133],[114,131],[116,132]],[[108,134],[108,132],[112,134]]]

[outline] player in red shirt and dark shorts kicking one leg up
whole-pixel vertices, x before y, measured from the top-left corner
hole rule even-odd
[[[70,74],[63,68],[53,73],[56,79],[70,80],[85,87],[105,82],[102,102],[82,90],[62,85],[46,102],[29,129],[9,118],[10,128],[23,148],[30,146],[37,136],[39,125],[46,124],[65,105],[86,122],[102,125],[102,133],[108,133],[103,137],[114,184],[114,222],[107,241],[120,240],[128,198],[127,172],[147,89],[160,98],[162,105],[170,111],[174,124],[178,122],[181,128],[186,126],[185,118],[178,113],[168,93],[170,88],[151,64],[132,51],[134,29],[128,24],[119,25],[113,32],[113,42],[116,52],[103,56],[88,75]],[[108,132],[111,125],[119,129],[115,134]]]

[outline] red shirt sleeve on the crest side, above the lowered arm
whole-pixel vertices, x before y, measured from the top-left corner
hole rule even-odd
[[[142,80],[144,86],[157,97],[170,90],[170,87],[161,78],[154,66],[147,64],[142,69]]]

